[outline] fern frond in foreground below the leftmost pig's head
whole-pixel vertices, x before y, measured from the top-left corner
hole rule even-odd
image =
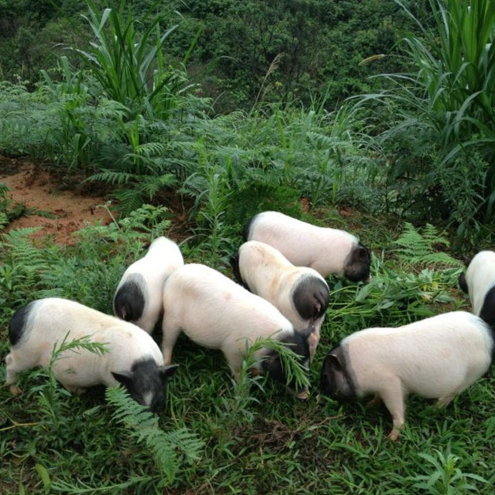
[[[131,399],[121,387],[108,388],[106,397],[115,407],[114,419],[126,427],[131,438],[149,450],[160,471],[156,476],[160,487],[173,483],[184,462],[191,464],[200,458],[204,443],[187,428],[164,432],[158,426],[158,417]]]

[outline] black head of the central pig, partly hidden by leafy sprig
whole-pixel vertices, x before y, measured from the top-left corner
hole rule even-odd
[[[292,352],[294,352],[303,367],[309,370],[310,354],[309,354],[309,342],[308,338],[313,332],[312,328],[308,328],[301,332],[294,332],[293,334],[285,334],[279,338],[279,341],[288,346]],[[294,395],[305,398],[307,391],[298,390],[296,387],[296,381],[292,380],[287,383],[287,374],[284,371],[282,365],[282,359],[280,354],[272,349],[268,350],[261,363],[261,368],[264,373],[268,373],[275,381],[286,386]]]

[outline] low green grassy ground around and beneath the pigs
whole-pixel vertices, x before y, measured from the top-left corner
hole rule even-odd
[[[166,232],[166,222],[143,221],[150,215],[118,228],[88,227],[79,244],[67,249],[50,243],[30,248],[22,236],[4,237],[2,360],[8,319],[32,299],[60,295],[110,312],[114,287],[140,255],[142,238]],[[319,221],[328,219],[373,249],[374,278],[370,286],[330,281],[330,307],[307,401],[269,380],[236,387],[221,353],[180,338],[174,361],[181,367],[168,387],[159,427],[165,432],[187,427],[204,446],[193,462],[178,454],[179,469],[170,481],[160,474],[151,449],[116,419],[104,391],[72,397],[50,385],[46,373],[29,372],[21,396],[0,388],[0,493],[494,493],[495,379],[480,379],[445,410],[410,397],[397,442],[387,439],[392,422],[383,406],[369,410],[364,402],[317,402],[323,358],[344,335],[468,308],[456,287],[460,268],[409,263],[393,243],[402,231],[396,222],[354,212],[345,218],[319,214]],[[204,243],[182,249],[186,261],[221,259]],[[2,363],[1,381],[4,376]]]

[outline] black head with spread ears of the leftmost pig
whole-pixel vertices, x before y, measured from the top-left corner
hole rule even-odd
[[[131,371],[112,372],[112,375],[136,402],[158,413],[165,409],[166,382],[178,367],[177,364],[160,366],[154,360],[145,358],[135,361]]]

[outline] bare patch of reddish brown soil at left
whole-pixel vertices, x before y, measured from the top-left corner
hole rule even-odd
[[[22,203],[26,214],[9,224],[9,229],[40,227],[34,234],[38,239],[51,235],[58,244],[72,244],[71,234],[84,226],[100,220],[107,224],[111,216],[104,205],[106,200],[79,183],[71,189],[62,190],[63,177],[54,176],[46,169],[26,160],[13,160],[0,157],[0,182],[10,190],[14,203]]]

